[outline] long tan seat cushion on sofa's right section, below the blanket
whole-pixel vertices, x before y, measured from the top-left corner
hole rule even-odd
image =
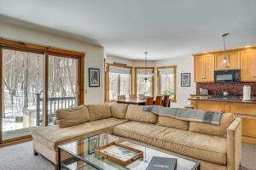
[[[128,139],[170,150],[184,156],[226,165],[226,139],[143,122],[126,122],[113,133]]]

